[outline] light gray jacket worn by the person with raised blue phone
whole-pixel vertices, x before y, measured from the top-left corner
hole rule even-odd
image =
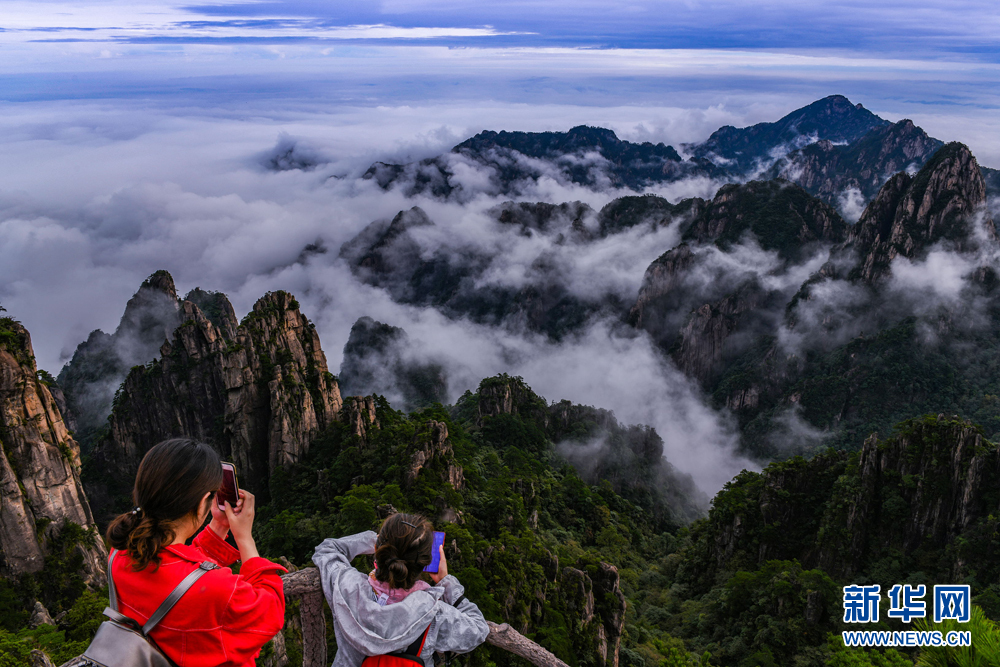
[[[351,565],[355,557],[375,553],[376,537],[368,531],[323,540],[313,554],[333,610],[333,667],[358,667],[365,656],[405,650],[427,626],[430,631],[420,653],[427,667],[434,666],[435,651],[467,653],[486,641],[490,629],[479,607],[465,599],[453,606],[465,588],[450,574],[436,586],[380,607],[368,575]]]

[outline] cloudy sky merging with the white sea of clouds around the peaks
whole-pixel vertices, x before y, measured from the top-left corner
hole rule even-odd
[[[334,370],[370,315],[448,357],[456,395],[520,373],[549,399],[656,425],[671,460],[718,488],[745,463],[719,454],[731,424],[647,342],[599,323],[555,347],[352,282],[335,251],[372,220],[416,203],[464,229],[496,203],[405,200],[357,176],[484,129],[590,124],[678,146],[835,93],[1000,167],[998,34],[994,2],[0,0],[0,304],[57,372],[157,269],[225,291],[240,315],[288,289]],[[325,165],[262,169],[282,141]],[[536,194],[599,208],[620,193]],[[316,242],[334,252],[297,262]],[[665,248],[632,250],[605,262],[616,290],[637,289]]]

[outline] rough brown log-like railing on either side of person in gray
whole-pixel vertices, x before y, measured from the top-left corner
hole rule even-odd
[[[285,583],[285,599],[299,601],[299,620],[302,624],[302,667],[327,667],[326,618],[323,615],[323,590],[319,583],[319,570],[314,567],[290,572],[281,577]],[[506,623],[487,621],[490,634],[486,643],[520,656],[538,667],[568,667],[535,642]]]

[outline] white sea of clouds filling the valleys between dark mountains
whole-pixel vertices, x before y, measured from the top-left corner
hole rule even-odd
[[[326,108],[299,101],[267,108],[255,100],[245,110],[238,106],[135,99],[4,105],[0,305],[31,331],[40,368],[57,373],[90,331],[113,331],[142,280],[166,269],[182,294],[196,286],[225,292],[240,316],[267,291],[292,292],[316,323],[334,372],[352,324],[370,316],[405,329],[410,354],[446,369],[452,400],[484,377],[521,375],[549,400],[608,408],[623,423],[654,426],[667,458],[707,492],[754,467],[736,453],[729,415],[709,407],[697,385],[645,334],[595,318],[554,342],[510,327],[449,319],[432,308],[400,305],[384,290],[360,283],[338,251],[373,220],[419,205],[435,222],[418,235],[422,245],[489,251],[501,260],[491,266],[490,280],[516,286],[544,259],[575,293],[611,293],[628,301],[649,263],[676,244],[676,229],[556,244],[549,236],[526,237],[492,221],[487,211],[505,197],[481,194],[461,203],[410,198],[360,176],[376,160],[438,155],[483,129],[590,124],[610,127],[623,139],[679,146],[703,140],[723,124],[776,119],[794,104],[781,111],[777,102],[683,108],[465,101]],[[270,158],[288,151],[300,162],[285,166],[309,168],[267,168]],[[474,169],[458,174],[470,191],[482,176]],[[677,202],[711,197],[718,185],[697,179],[653,192]],[[622,194],[632,193],[587,189],[552,175],[519,199],[582,201],[596,211]],[[310,245],[326,252],[303,253]],[[724,270],[759,274],[783,292],[818,266],[816,259],[775,272],[775,258],[752,244],[742,254],[707,259],[708,267],[735,262]],[[939,260],[942,270],[951,266],[949,258],[928,261]],[[901,266],[898,278],[905,280],[908,270]],[[850,295],[838,298],[849,301]]]

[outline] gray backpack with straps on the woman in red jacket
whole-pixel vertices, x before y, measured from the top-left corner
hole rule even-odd
[[[108,559],[108,597],[111,598],[111,606],[105,607],[104,615],[109,620],[101,623],[93,641],[81,657],[100,667],[175,667],[173,661],[164,655],[150,638],[149,631],[163,620],[167,612],[177,604],[182,595],[187,593],[194,582],[209,570],[215,570],[219,566],[208,561],[201,563],[197,570],[177,584],[177,588],[149,617],[146,625],[140,626],[134,619],[118,611],[118,594],[111,576],[111,566],[115,562],[117,553],[116,550],[112,551],[111,558]]]

